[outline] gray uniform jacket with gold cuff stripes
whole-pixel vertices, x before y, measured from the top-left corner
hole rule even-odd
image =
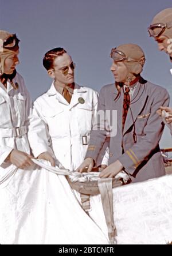
[[[169,106],[169,94],[165,88],[143,81],[143,84],[138,82],[136,86],[123,131],[123,88],[120,90],[120,96],[115,100],[118,95],[115,85],[103,86],[98,103],[98,111],[110,111],[108,120],[112,120],[112,110],[117,110],[117,133],[115,136],[110,135],[108,164],[119,160],[126,172],[130,174],[132,182],[140,182],[165,174],[158,145],[164,125],[156,111],[160,106]],[[108,127],[105,122],[109,122],[107,118],[104,118],[104,127]],[[91,131],[91,139],[85,156],[85,158],[92,157],[95,161],[107,137],[107,130],[102,127],[97,130],[97,126],[100,127],[99,122],[95,123]]]

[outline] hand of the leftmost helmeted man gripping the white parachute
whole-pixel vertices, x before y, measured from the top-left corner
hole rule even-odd
[[[13,149],[7,158],[11,164],[14,164],[20,169],[27,168],[34,164],[31,160],[33,158],[32,156],[16,149]]]

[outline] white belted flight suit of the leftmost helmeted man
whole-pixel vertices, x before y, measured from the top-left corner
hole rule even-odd
[[[5,173],[1,165],[11,150],[30,153],[26,134],[32,102],[20,74],[16,74],[13,83],[18,84],[18,89],[14,89],[9,81],[6,89],[0,82],[0,175]]]

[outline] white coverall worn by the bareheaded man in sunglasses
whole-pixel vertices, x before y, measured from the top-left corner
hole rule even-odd
[[[37,120],[42,119],[48,131],[49,145],[52,147],[56,159],[68,170],[76,170],[83,162],[88,148],[89,135],[97,112],[97,92],[91,88],[75,84],[71,103],[56,91],[54,84],[34,102],[35,122],[32,130],[37,126]],[[33,118],[33,119],[34,119]],[[34,125],[35,124],[35,125]],[[41,129],[36,136],[44,139]],[[29,141],[33,154],[38,155],[34,134],[29,133]],[[42,144],[42,142],[41,142]],[[99,163],[108,165],[108,149],[101,150]],[[104,154],[105,152],[105,154]]]

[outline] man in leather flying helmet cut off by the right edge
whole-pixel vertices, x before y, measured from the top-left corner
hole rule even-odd
[[[165,51],[172,62],[172,8],[167,8],[156,14],[148,27],[148,32],[157,41],[159,51]],[[167,112],[165,121],[172,133],[172,108],[161,106],[158,110],[160,116],[162,116],[163,110]]]

